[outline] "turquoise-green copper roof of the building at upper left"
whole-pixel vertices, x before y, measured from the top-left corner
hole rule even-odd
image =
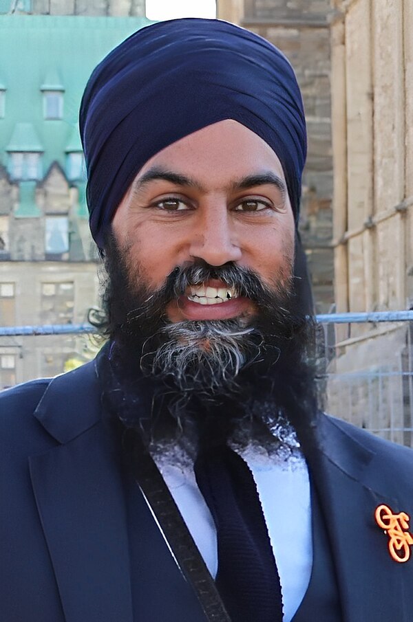
[[[78,109],[87,78],[120,41],[151,23],[145,17],[1,15],[1,82],[6,115],[0,118],[0,164],[8,151],[42,151],[65,170],[67,151],[78,151]],[[63,118],[46,120],[42,89],[61,91]],[[64,91],[63,91],[64,89]],[[73,148],[75,147],[75,148]]]

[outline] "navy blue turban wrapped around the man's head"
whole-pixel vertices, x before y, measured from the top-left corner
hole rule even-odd
[[[279,49],[231,23],[176,19],[132,34],[96,67],[80,113],[92,236],[162,148],[225,119],[268,143],[297,222],[306,124],[294,71]]]

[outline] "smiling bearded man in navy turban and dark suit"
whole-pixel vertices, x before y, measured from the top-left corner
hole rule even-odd
[[[317,409],[286,58],[152,25],[81,134],[109,342],[2,396],[1,619],[413,620],[412,452]]]

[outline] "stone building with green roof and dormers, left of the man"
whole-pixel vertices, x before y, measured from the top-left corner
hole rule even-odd
[[[5,3],[0,4],[0,10]],[[85,322],[98,302],[78,107],[142,3],[19,0],[0,14],[0,325]],[[30,15],[76,10],[79,16]],[[102,16],[84,16],[91,10]],[[0,337],[0,388],[80,362],[85,337]],[[80,359],[80,361],[79,361]]]

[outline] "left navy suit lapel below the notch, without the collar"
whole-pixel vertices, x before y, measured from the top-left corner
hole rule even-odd
[[[30,458],[30,475],[66,622],[131,622],[123,486],[102,426]]]

